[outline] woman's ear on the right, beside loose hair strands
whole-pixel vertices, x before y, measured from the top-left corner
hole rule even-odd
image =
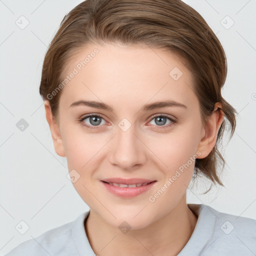
[[[202,130],[203,135],[197,147],[197,150],[201,154],[197,156],[197,158],[206,157],[214,147],[217,140],[218,129],[222,123],[223,117],[224,113],[221,110],[221,104],[216,102],[214,104],[214,109]]]

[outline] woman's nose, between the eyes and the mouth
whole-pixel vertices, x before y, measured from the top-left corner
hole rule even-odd
[[[121,169],[129,170],[143,165],[147,147],[133,125],[127,130],[117,127],[110,148],[110,162]]]

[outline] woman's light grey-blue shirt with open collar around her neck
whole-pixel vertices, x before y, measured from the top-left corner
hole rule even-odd
[[[177,256],[255,256],[256,220],[219,212],[204,204],[187,204],[198,211],[197,223]],[[74,221],[51,229],[19,244],[5,256],[93,256],[84,220],[89,211]]]

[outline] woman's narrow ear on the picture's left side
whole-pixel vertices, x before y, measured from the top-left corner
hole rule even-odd
[[[46,120],[50,127],[51,137],[54,145],[55,152],[59,156],[65,156],[65,151],[63,147],[63,141],[59,132],[59,125],[52,116],[51,107],[48,100],[44,100],[44,109]]]

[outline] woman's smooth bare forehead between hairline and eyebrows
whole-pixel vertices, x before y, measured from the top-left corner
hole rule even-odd
[[[148,46],[86,45],[66,63],[62,79],[66,76],[60,97],[65,105],[84,98],[113,107],[114,102],[132,106],[172,99],[189,105],[197,100],[192,74],[183,60]]]

